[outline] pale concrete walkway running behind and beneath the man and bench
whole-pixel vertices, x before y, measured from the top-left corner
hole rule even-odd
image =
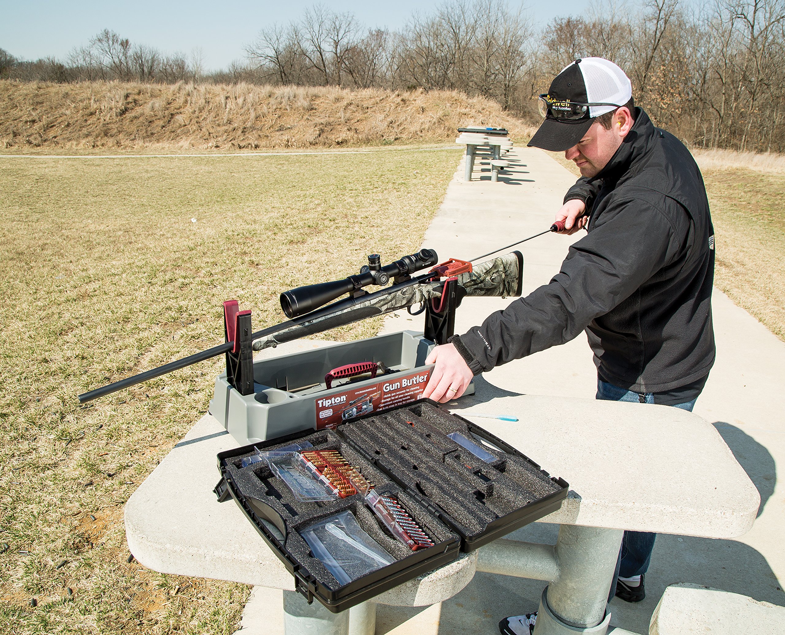
[[[462,180],[463,165],[447,188],[444,203],[425,234],[424,246],[447,257],[469,259],[494,246],[542,231],[553,222],[575,177],[534,148],[516,148],[510,168],[491,183],[487,159],[476,161],[474,181]],[[479,177],[479,180],[478,180]],[[520,249],[524,254],[524,294],[555,274],[574,237],[543,235]],[[462,333],[509,300],[467,298],[458,309]],[[717,363],[695,412],[713,422],[761,494],[761,511],[749,534],[738,541],[660,535],[640,604],[612,602],[612,626],[648,633],[648,624],[666,586],[695,582],[785,606],[779,580],[785,576],[782,549],[785,494],[777,487],[776,465],[785,464],[785,344],[719,290],[714,290]],[[385,323],[385,331],[422,328],[422,318],[405,313]],[[476,382],[480,397],[512,393],[569,395],[593,399],[597,375],[584,335],[567,345],[499,367]],[[460,407],[459,402],[455,407]],[[641,406],[645,407],[645,406]],[[620,479],[635,478],[635,465]],[[533,524],[513,538],[555,542],[556,527]],[[535,611],[544,583],[477,574],[441,607],[379,606],[377,633],[498,633],[506,615]]]

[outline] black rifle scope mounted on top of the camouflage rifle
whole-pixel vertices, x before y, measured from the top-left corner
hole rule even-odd
[[[309,284],[298,286],[297,289],[284,291],[281,294],[281,308],[287,317],[295,318],[312,312],[327,302],[333,301],[343,294],[359,291],[363,286],[376,284],[384,286],[390,278],[400,279],[411,276],[414,272],[433,267],[439,261],[432,249],[423,249],[417,254],[404,256],[400,260],[381,266],[378,254],[368,256],[368,264],[363,265],[360,273],[331,283]]]

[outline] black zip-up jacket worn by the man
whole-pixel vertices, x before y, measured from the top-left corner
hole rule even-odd
[[[568,191],[591,216],[549,284],[453,338],[474,374],[586,330],[604,381],[665,392],[714,363],[714,228],[703,178],[672,134],[636,119],[608,165]]]

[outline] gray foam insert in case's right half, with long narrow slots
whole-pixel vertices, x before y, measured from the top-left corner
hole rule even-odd
[[[496,460],[476,458],[447,438],[450,432],[460,432]],[[561,489],[525,458],[487,447],[472,435],[468,422],[427,403],[347,422],[338,433],[404,487],[439,505],[467,537]]]

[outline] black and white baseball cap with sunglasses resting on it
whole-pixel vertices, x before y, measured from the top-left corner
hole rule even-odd
[[[633,87],[624,71],[602,57],[584,57],[562,69],[545,95],[540,114],[545,121],[530,146],[563,151],[577,144],[594,119],[626,104]]]

